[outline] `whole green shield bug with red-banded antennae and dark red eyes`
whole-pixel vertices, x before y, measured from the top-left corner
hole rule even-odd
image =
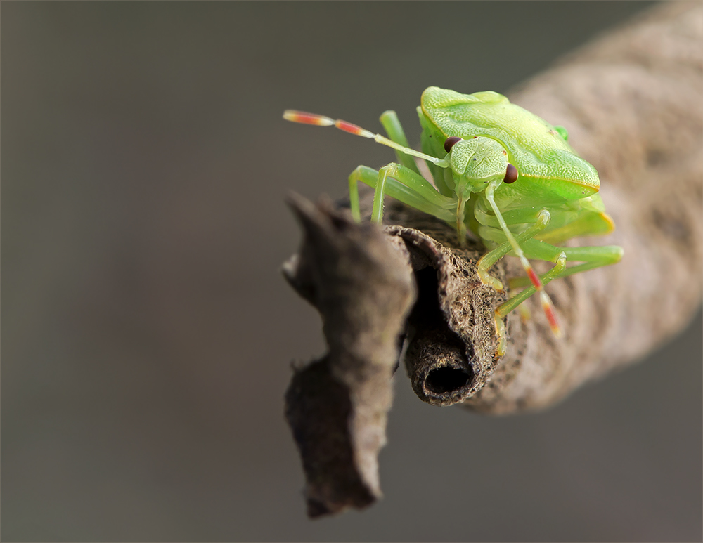
[[[481,280],[496,289],[503,284],[489,268],[503,256],[517,256],[527,277],[510,281],[510,288],[528,286],[496,309],[498,354],[505,353],[503,319],[538,292],[555,335],[560,336],[555,311],[543,285],[557,277],[617,263],[621,247],[559,247],[576,236],[611,233],[612,218],[598,195],[595,168],[567,143],[567,132],[487,91],[460,94],[430,87],[418,107],[423,152],[408,141],[393,111],[381,115],[388,138],[346,121],[288,110],[285,119],[337,128],[373,138],[396,150],[398,163],[376,171],[359,166],[349,176],[352,215],[360,220],[359,181],[375,188],[371,220],[380,222],[383,197],[389,195],[415,209],[453,225],[460,244],[467,230],[487,249],[477,263]],[[415,160],[427,161],[434,185],[418,170]],[[527,259],[555,264],[537,275]],[[567,261],[579,264],[568,266]]]

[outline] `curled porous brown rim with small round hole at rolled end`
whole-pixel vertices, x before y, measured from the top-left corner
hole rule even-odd
[[[427,222],[425,231],[434,236],[447,232]],[[450,248],[402,226],[386,232],[406,243],[418,282],[405,354],[413,390],[427,403],[458,403],[484,386],[498,363],[493,308],[505,296],[479,280],[479,247]]]

